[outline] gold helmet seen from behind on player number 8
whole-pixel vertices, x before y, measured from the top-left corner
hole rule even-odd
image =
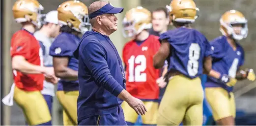
[[[193,0],[172,0],[166,8],[171,22],[193,23],[199,17],[199,8]]]

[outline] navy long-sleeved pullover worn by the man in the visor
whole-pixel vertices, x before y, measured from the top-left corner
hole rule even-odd
[[[78,121],[95,115],[116,113],[125,89],[122,60],[108,36],[85,32],[78,49]]]

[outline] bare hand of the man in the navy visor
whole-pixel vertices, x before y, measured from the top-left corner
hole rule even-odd
[[[138,115],[146,114],[146,107],[140,99],[132,97],[130,100],[127,100],[127,103],[136,111]]]

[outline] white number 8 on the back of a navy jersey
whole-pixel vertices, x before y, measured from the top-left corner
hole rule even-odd
[[[188,74],[190,76],[196,76],[198,74],[199,60],[200,58],[200,46],[198,43],[191,43],[189,47],[189,61],[187,65]]]

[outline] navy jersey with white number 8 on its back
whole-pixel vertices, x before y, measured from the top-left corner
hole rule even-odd
[[[203,60],[212,54],[212,50],[199,31],[180,27],[161,34],[159,40],[167,40],[171,44],[168,71],[177,70],[188,78],[202,74]]]

